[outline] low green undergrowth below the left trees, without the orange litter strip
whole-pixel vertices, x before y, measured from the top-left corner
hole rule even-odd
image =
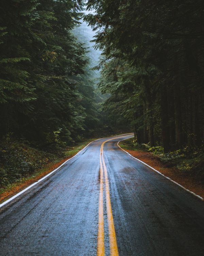
[[[6,136],[0,142],[0,193],[13,183],[32,178],[39,171],[46,171],[52,164],[76,154],[91,140],[93,139],[84,140],[72,147],[56,144],[42,150],[28,141]]]

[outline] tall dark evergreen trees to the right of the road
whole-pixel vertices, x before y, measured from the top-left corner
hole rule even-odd
[[[138,143],[200,147],[204,2],[89,0],[87,10],[96,10],[85,19],[103,50],[99,86],[111,95],[104,109],[128,119]]]

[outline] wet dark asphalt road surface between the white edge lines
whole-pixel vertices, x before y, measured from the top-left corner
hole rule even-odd
[[[100,148],[107,139],[0,209],[0,255],[96,255]],[[119,255],[203,256],[204,202],[122,151],[121,139],[103,151]]]

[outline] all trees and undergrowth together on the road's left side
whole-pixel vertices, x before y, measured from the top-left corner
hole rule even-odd
[[[126,129],[100,110],[99,74],[90,70],[98,55],[80,25],[83,6],[1,1],[0,189],[75,154],[90,138]]]

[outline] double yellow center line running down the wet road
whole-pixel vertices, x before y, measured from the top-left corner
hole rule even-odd
[[[129,135],[127,135],[129,136]],[[98,238],[97,238],[97,256],[105,255],[105,244],[104,244],[104,217],[103,217],[103,173],[105,178],[105,192],[106,192],[106,211],[108,218],[108,234],[109,234],[109,246],[110,246],[110,254],[111,256],[118,256],[118,246],[116,241],[116,232],[113,221],[113,214],[111,209],[111,199],[109,192],[109,184],[108,184],[108,173],[105,165],[104,157],[103,157],[103,146],[107,141],[111,141],[114,139],[122,138],[125,136],[120,136],[117,138],[112,138],[104,141],[101,144],[100,151],[100,192],[99,192],[99,220],[98,220]]]

